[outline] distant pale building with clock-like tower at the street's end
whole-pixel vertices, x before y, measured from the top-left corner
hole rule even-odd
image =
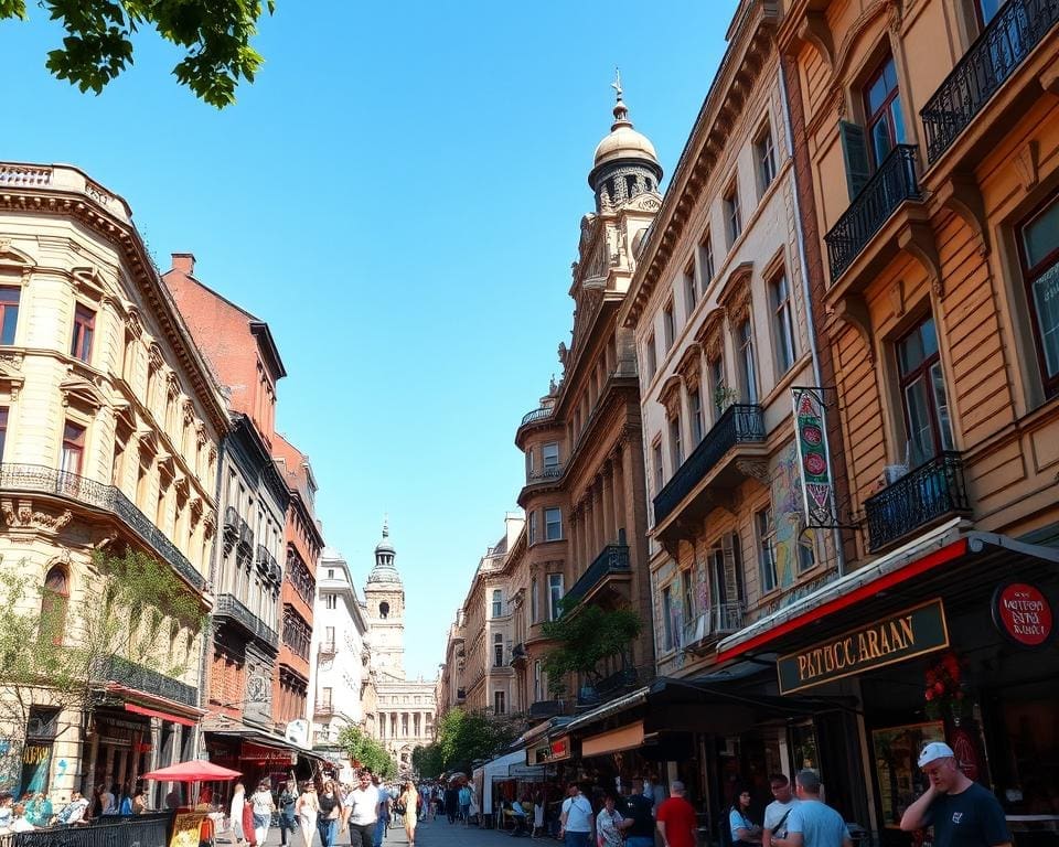
[[[405,676],[405,587],[386,525],[364,587],[364,605],[377,697],[373,737],[389,752],[398,772],[409,774],[411,751],[434,740],[437,686],[435,680]]]

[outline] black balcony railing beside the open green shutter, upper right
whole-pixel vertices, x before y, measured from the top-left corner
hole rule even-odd
[[[832,285],[856,261],[901,203],[920,197],[916,179],[916,148],[898,144],[824,236]]]

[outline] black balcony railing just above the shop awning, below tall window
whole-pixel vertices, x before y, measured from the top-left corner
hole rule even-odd
[[[871,553],[946,515],[971,514],[960,453],[939,453],[865,501],[864,512]]]

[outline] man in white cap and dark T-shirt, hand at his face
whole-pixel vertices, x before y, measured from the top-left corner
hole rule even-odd
[[[919,754],[930,780],[901,817],[907,833],[934,827],[934,847],[1010,847],[1004,810],[993,792],[967,779],[949,744],[931,741]]]

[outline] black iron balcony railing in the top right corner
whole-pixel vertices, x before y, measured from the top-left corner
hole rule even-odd
[[[919,112],[933,164],[1059,22],[1056,0],[1008,0]]]

